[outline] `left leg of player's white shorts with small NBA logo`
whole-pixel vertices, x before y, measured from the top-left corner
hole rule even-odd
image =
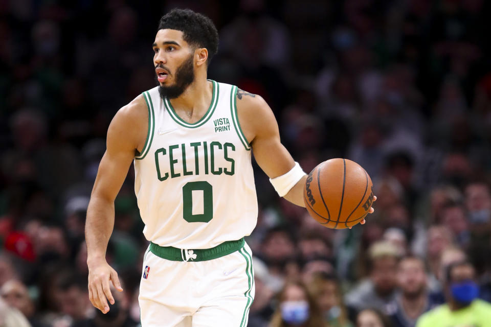
[[[145,253],[138,297],[142,327],[191,327],[194,309],[183,291],[187,277],[180,264]]]

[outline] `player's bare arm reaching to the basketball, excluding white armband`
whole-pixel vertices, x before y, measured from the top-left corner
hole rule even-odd
[[[270,178],[283,176],[295,166],[292,155],[281,144],[278,123],[270,106],[258,95],[237,92],[237,114],[245,137],[251,142],[254,158]],[[299,206],[303,203],[303,176],[283,197]]]

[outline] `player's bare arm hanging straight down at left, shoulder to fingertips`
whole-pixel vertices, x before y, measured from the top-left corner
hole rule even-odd
[[[106,248],[114,227],[114,200],[126,178],[136,149],[141,149],[141,133],[147,130],[146,112],[146,104],[140,96],[114,116],[107,131],[106,152],[100,162],[87,208],[85,241],[88,292],[94,307],[103,313],[109,311],[106,299],[114,303],[109,281],[122,291],[118,274],[106,262]]]

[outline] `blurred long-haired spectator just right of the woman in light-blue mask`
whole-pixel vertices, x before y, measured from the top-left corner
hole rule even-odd
[[[324,272],[316,273],[307,287],[317,299],[319,309],[329,327],[353,326],[348,320],[341,293],[341,283],[336,276]]]

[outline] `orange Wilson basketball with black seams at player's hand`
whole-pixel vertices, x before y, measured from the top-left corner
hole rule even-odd
[[[367,216],[372,180],[354,161],[329,159],[308,174],[303,201],[310,216],[325,227],[348,228]]]

